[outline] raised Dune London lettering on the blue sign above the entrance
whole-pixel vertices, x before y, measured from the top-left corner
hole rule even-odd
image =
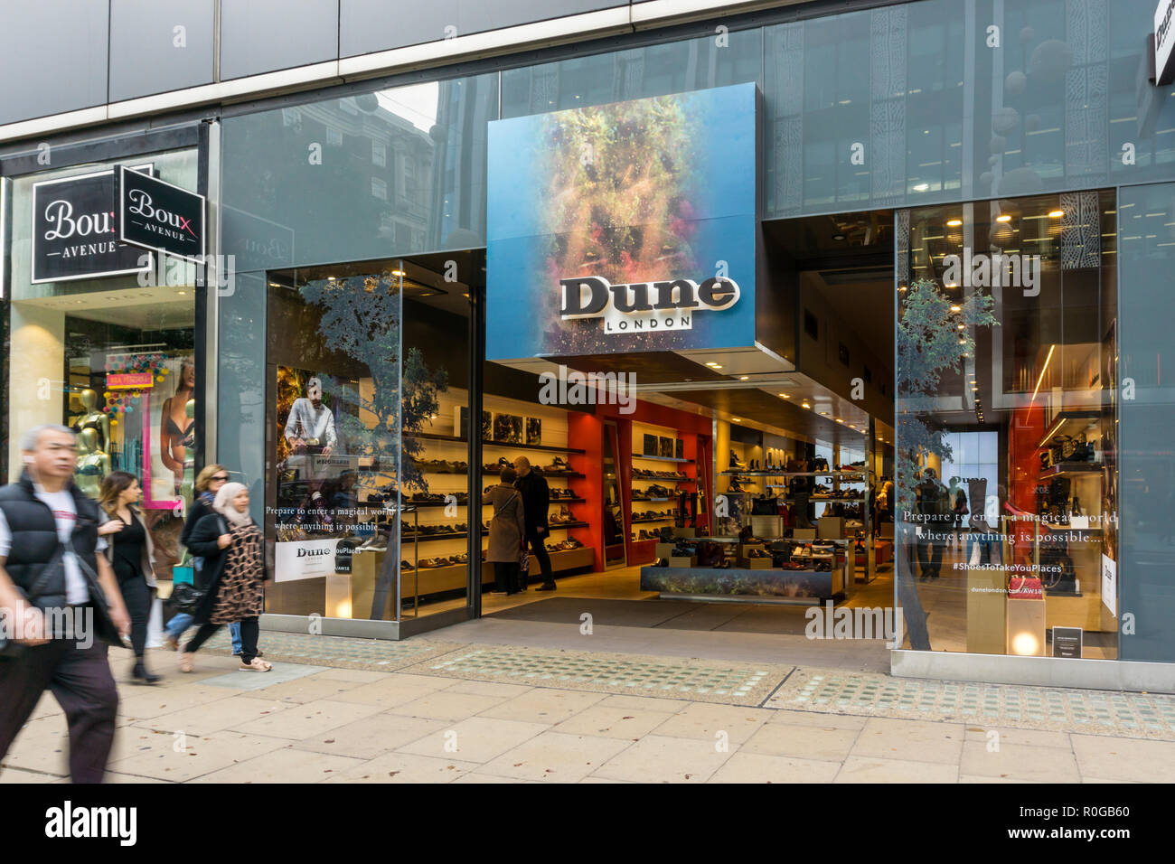
[[[610,284],[600,276],[560,279],[564,321],[603,319],[604,333],[689,330],[694,312],[721,312],[738,302],[738,282],[711,277],[698,284],[689,279]]]

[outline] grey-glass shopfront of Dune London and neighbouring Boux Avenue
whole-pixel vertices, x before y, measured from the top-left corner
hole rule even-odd
[[[1159,686],[1148,6],[763,13],[0,160],[6,476],[74,426],[80,483],[143,476],[166,578],[224,464],[268,627],[402,638],[510,608],[482,502],[523,456],[560,585],[900,609],[898,674]],[[119,166],[208,196],[217,279],[52,269],[41,196]]]

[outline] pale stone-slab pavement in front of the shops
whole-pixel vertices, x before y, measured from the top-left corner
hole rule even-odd
[[[575,642],[566,628],[556,636],[531,625],[510,637],[494,622],[470,624],[404,642],[263,631],[261,648],[274,662],[268,674],[239,671],[222,631],[190,675],[176,671],[176,655],[150,651],[149,664],[166,676],[155,686],[129,683],[129,663],[119,656],[107,779],[1175,778],[1173,696],[900,679],[874,668],[877,647],[859,649],[862,663],[850,657],[821,667],[805,654],[811,645],[768,652],[753,638],[741,650],[714,643],[701,658],[696,642],[690,655],[685,643],[650,641],[650,631],[636,628],[611,641]],[[65,719],[46,695],[5,757],[0,783],[68,782],[66,746]]]

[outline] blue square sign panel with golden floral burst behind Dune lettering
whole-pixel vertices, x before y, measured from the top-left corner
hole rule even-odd
[[[753,346],[757,112],[740,83],[491,122],[486,357]],[[565,319],[560,280],[584,277],[613,286],[607,308]],[[698,302],[713,277],[738,301]],[[673,280],[698,306],[613,308]]]

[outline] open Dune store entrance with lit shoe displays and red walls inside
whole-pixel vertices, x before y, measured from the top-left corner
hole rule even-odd
[[[757,331],[765,319],[786,329],[777,350],[563,357],[562,373],[525,364],[632,382],[634,400],[558,408],[569,464],[584,476],[568,481],[566,504],[549,478],[557,590],[535,590],[544,580],[532,555],[531,589],[488,594],[483,615],[803,636],[813,605],[891,608],[892,226],[888,212],[765,223]],[[486,391],[485,409],[494,404]],[[619,438],[615,473],[602,417]],[[592,501],[597,490],[604,501]],[[603,517],[617,502],[625,565],[607,568],[597,552],[592,567],[562,568],[562,536],[595,545],[592,522],[613,524]],[[586,524],[564,528],[576,523]]]

